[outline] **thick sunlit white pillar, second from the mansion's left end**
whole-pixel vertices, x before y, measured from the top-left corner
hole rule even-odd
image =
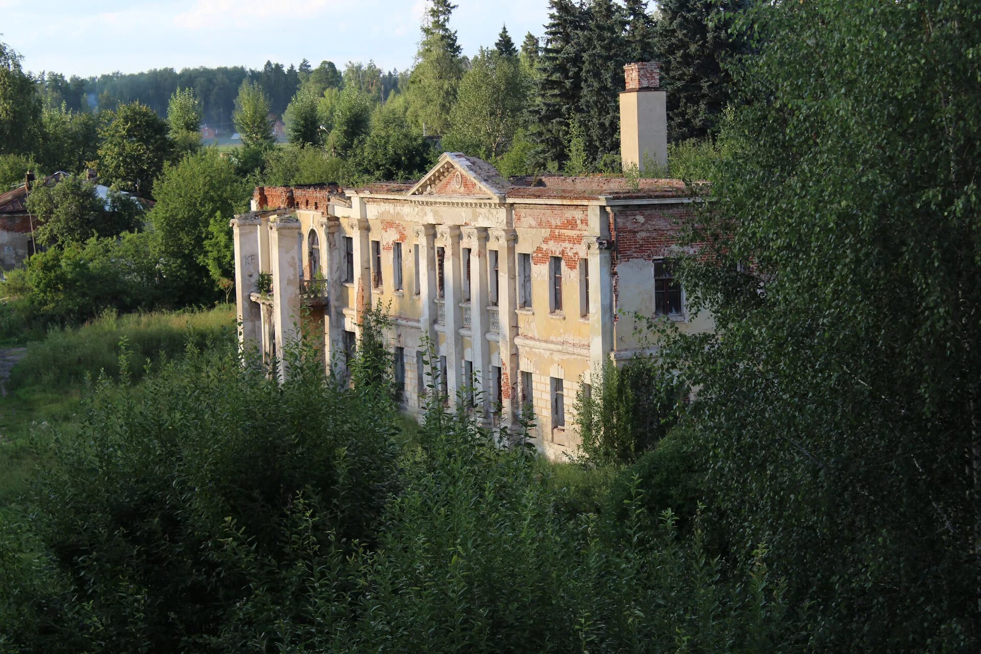
[[[277,216],[271,226],[273,327],[282,380],[287,373],[284,349],[300,336],[300,224],[295,217]]]

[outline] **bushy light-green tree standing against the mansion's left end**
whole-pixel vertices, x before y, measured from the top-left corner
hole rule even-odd
[[[185,155],[161,174],[149,220],[164,272],[183,302],[210,298],[222,272],[230,270],[231,255],[221,234],[231,233],[229,221],[248,190],[232,163],[211,149]]]

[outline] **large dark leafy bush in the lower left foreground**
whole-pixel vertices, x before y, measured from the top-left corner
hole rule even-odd
[[[55,437],[32,494],[41,554],[27,577],[58,584],[7,589],[0,643],[207,650],[242,607],[298,599],[288,591],[308,548],[342,561],[374,542],[397,480],[393,415],[337,388],[322,360],[290,357],[282,386],[234,347],[189,350],[147,381],[142,402],[127,376],[100,380],[80,434]],[[0,558],[16,547],[0,542]]]

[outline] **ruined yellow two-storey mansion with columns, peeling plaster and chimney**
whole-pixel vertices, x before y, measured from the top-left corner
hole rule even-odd
[[[624,161],[663,164],[656,64],[625,68]],[[478,416],[513,425],[531,405],[537,442],[557,457],[577,443],[580,385],[642,346],[635,312],[711,327],[664,261],[691,202],[678,180],[507,179],[451,152],[414,183],[258,187],[232,221],[240,337],[280,356],[306,308],[342,374],[362,312],[381,301],[405,411],[419,414],[433,389],[453,404],[475,379]]]

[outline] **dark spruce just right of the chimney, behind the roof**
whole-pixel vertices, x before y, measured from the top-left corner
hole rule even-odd
[[[747,0],[662,0],[655,28],[667,91],[668,138],[673,142],[715,132],[729,100],[731,79],[722,63],[741,49],[729,33]]]

